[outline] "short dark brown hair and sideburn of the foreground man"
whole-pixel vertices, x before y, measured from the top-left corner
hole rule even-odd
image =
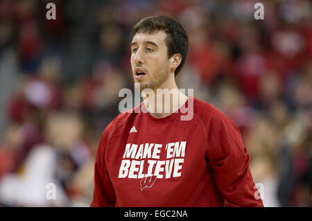
[[[175,53],[180,53],[182,56],[180,65],[175,69],[175,76],[177,76],[185,60],[187,60],[187,53],[189,52],[189,37],[187,37],[187,33],[179,22],[164,15],[145,17],[135,24],[132,35],[134,37],[137,33],[152,34],[159,30],[164,30],[168,35],[166,37],[168,58],[171,58]]]

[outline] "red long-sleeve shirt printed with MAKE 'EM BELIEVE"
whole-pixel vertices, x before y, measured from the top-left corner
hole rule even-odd
[[[191,96],[184,107],[189,121],[180,109],[164,118],[132,109],[106,127],[90,206],[263,206],[233,121]]]

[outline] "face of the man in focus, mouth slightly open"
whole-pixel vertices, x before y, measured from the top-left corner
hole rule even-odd
[[[168,78],[169,60],[166,33],[137,33],[131,43],[131,67],[140,88],[157,89]]]

